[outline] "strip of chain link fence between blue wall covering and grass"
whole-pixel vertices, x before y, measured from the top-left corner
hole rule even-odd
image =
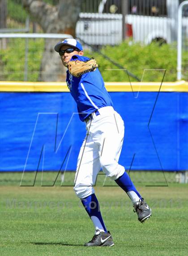
[[[59,172],[38,172],[35,179],[36,172],[25,172],[23,180],[21,182],[22,172],[2,172],[0,174],[1,185],[31,185],[41,186],[41,184],[50,186],[74,186],[74,171],[61,171]],[[186,174],[186,180],[182,180],[182,174],[180,172],[162,172],[162,171],[131,171],[129,175],[132,182],[138,186],[168,186],[175,183],[188,183],[188,173]],[[114,187],[117,186],[113,180],[106,178],[103,172],[99,172],[95,186],[99,187]]]

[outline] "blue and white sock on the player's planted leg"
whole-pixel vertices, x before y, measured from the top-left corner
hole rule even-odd
[[[82,198],[81,202],[88,215],[90,216],[91,220],[93,221],[95,229],[99,229],[100,231],[107,233],[107,229],[104,225],[99,203],[95,194],[92,194],[86,198]]]

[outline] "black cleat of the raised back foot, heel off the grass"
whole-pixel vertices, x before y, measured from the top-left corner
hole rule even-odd
[[[134,212],[137,212],[138,220],[141,223],[144,223],[145,220],[149,219],[151,216],[151,209],[147,205],[147,203],[144,201],[144,198],[142,198],[143,201],[135,202],[133,204]]]

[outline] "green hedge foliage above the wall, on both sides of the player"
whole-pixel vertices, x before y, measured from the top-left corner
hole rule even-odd
[[[38,81],[43,49],[43,39],[29,40],[28,81]],[[176,81],[177,51],[173,45],[164,44],[159,46],[157,43],[141,45],[124,41],[120,45],[104,47],[101,51],[129,72],[140,79],[142,78],[142,81],[162,81],[165,69],[167,69],[167,72],[164,81]],[[136,79],[128,77],[126,71],[109,70],[118,68],[97,52],[87,49],[85,55],[96,58],[104,81],[129,81],[129,78],[130,81],[136,81]],[[0,79],[23,81],[24,63],[25,40],[9,40],[7,49],[0,50],[2,70]],[[186,63],[188,63],[188,55],[184,53],[183,73],[186,72]]]

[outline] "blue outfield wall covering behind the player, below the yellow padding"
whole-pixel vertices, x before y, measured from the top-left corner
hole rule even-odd
[[[188,169],[187,93],[110,95],[125,124],[121,165],[129,169],[132,163],[132,170]],[[69,93],[1,92],[0,120],[0,171],[75,171],[86,130]]]

